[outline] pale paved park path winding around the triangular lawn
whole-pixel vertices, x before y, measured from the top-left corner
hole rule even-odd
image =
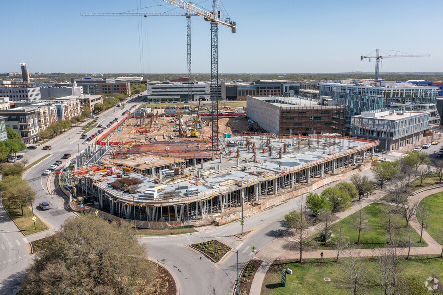
[[[436,188],[432,190],[427,190],[421,193],[418,193],[414,196],[409,197],[409,202],[421,201],[423,198],[441,192],[442,188]],[[380,202],[380,198],[386,194],[385,190],[377,190],[374,194],[369,196],[368,198],[362,199],[358,204],[352,206],[350,209],[339,212],[336,216],[338,220],[342,220],[345,217],[353,214],[354,212],[360,210],[363,207],[366,207],[374,202]],[[418,222],[417,218],[414,216],[410,221],[412,227],[420,234],[421,225]],[[316,231],[315,226],[310,228],[310,231],[314,233]],[[423,230],[423,240],[427,242],[428,246],[426,247],[411,247],[410,255],[431,255],[431,254],[440,254],[442,246],[432,238],[426,230]],[[254,280],[252,281],[250,294],[260,294],[261,287],[264,281],[264,277],[266,272],[269,270],[269,267],[272,265],[275,259],[281,260],[289,260],[299,257],[298,251],[291,251],[284,249],[284,246],[287,244],[288,240],[286,238],[278,238],[273,240],[271,243],[267,244],[263,247],[256,255],[256,259],[260,259],[263,263],[257,269],[255,273]],[[359,255],[369,257],[369,256],[379,256],[383,248],[380,249],[358,249]],[[315,250],[315,251],[304,251],[303,259],[308,258],[320,258],[320,254],[323,252],[324,258],[336,258],[337,250]],[[400,248],[399,255],[407,255],[408,248]]]

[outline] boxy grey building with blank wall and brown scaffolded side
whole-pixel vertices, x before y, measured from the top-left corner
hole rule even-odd
[[[246,115],[277,135],[339,133],[345,127],[343,105],[323,106],[303,97],[252,97]]]

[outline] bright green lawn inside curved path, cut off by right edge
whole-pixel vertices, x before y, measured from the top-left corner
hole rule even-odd
[[[439,243],[443,244],[443,192],[427,196],[421,200],[420,205],[426,205],[429,219],[426,231]]]

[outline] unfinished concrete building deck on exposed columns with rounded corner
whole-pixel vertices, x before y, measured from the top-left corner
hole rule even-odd
[[[92,197],[94,207],[121,219],[203,224],[356,169],[378,145],[337,134],[218,140],[219,151],[200,138],[110,147],[97,165],[74,170],[74,202]]]

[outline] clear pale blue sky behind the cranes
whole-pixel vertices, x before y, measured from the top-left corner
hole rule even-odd
[[[208,10],[212,5],[194,3]],[[430,54],[385,59],[380,71],[443,72],[441,0],[221,3],[238,30],[233,34],[219,26],[220,73],[373,71],[374,61],[360,61],[360,55],[376,48]],[[18,72],[26,62],[30,73],[185,73],[184,17],[80,17],[81,12],[137,12],[137,5],[142,12],[182,12],[162,0],[2,0],[0,72]],[[194,73],[210,71],[209,27],[192,17]]]

